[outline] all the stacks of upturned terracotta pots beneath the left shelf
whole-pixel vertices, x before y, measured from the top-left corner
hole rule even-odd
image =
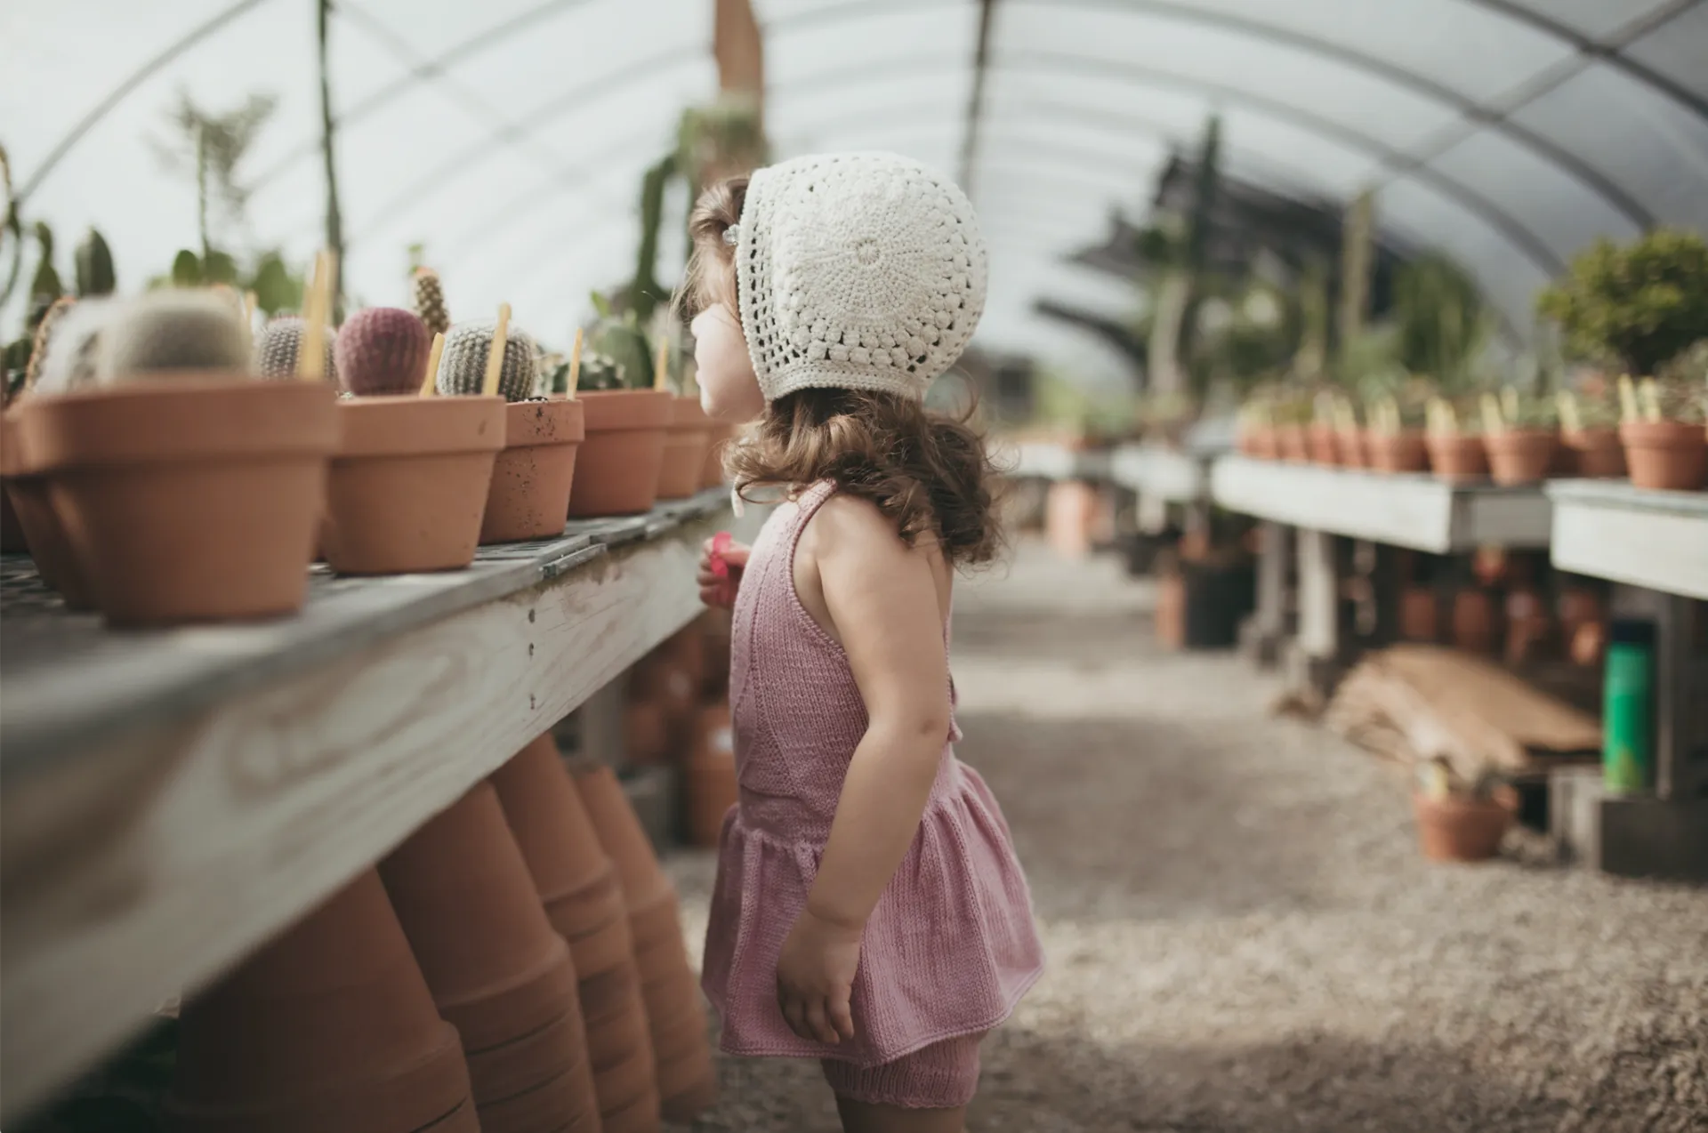
[[[716,1097],[676,896],[610,771],[529,744],[196,996],[186,1133],[656,1133]]]

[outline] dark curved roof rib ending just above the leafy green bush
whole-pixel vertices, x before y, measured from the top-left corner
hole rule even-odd
[[[1693,0],[1694,2],[1694,0]],[[1465,119],[1488,126],[1498,133],[1510,137],[1513,142],[1524,145],[1525,148],[1537,154],[1542,160],[1556,166],[1568,172],[1575,181],[1580,181],[1595,196],[1607,201],[1616,212],[1623,213],[1631,224],[1640,229],[1652,229],[1655,225],[1655,215],[1648,212],[1635,196],[1631,196],[1621,184],[1602,171],[1590,166],[1587,160],[1573,154],[1571,150],[1549,142],[1534,130],[1522,126],[1491,107],[1483,106],[1476,99],[1465,97],[1454,90],[1452,87],[1430,78],[1428,75],[1407,70],[1404,67],[1395,67],[1387,60],[1382,60],[1366,51],[1358,51],[1319,36],[1310,36],[1291,27],[1279,27],[1257,19],[1249,19],[1243,15],[1235,15],[1231,12],[1209,12],[1204,9],[1196,9],[1179,0],[1049,0],[1042,3],[1040,0],[1009,0],[1009,3],[1027,3],[1038,7],[1073,7],[1073,9],[1107,9],[1117,12],[1149,12],[1155,15],[1163,15],[1182,24],[1196,24],[1199,27],[1214,27],[1218,31],[1230,31],[1250,39],[1262,39],[1267,43],[1284,43],[1290,48],[1315,55],[1319,58],[1334,60],[1336,63],[1344,63],[1346,67],[1356,68],[1380,78],[1390,85],[1402,87],[1413,94],[1423,96],[1435,102],[1447,104],[1459,111]],[[1421,162],[1409,160],[1409,166],[1416,167]],[[1402,169],[1409,172],[1411,169]]]

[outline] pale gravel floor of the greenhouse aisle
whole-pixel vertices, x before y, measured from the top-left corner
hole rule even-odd
[[[1708,1130],[1708,892],[1424,863],[1394,768],[1149,609],[1035,546],[958,599],[960,754],[1049,954],[972,1133]],[[712,860],[670,869],[697,956]],[[816,1065],[721,1075],[695,1130],[837,1130]]]

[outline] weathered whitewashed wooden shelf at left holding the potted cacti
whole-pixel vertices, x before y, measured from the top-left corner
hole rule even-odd
[[[0,570],[3,1118],[219,976],[699,611],[707,491],[251,626],[114,633]]]

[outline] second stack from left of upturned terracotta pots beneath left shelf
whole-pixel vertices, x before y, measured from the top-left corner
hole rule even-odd
[[[598,1130],[576,966],[497,792],[475,787],[379,872],[434,1003],[461,1036],[483,1133]]]

